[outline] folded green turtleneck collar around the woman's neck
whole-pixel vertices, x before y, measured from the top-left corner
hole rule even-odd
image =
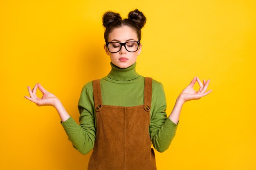
[[[111,71],[110,73],[108,73],[108,77],[110,79],[114,79],[117,81],[128,81],[128,80],[135,79],[139,77],[139,74],[136,72],[136,69],[135,69],[136,64],[137,62],[135,62],[134,64],[132,64],[127,68],[120,68],[115,64],[113,64],[112,62],[110,62]]]

